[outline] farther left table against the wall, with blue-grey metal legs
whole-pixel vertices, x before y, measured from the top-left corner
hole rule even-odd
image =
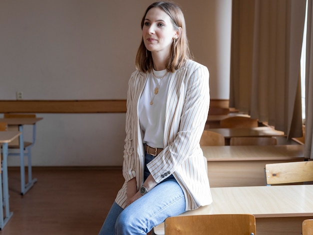
[[[33,139],[35,141],[36,122],[41,120],[42,117],[18,117],[18,118],[0,118],[0,122],[6,122],[8,128],[10,126],[18,126],[19,135],[19,153],[9,153],[9,155],[20,156],[20,194],[24,195],[37,181],[31,175],[31,162],[28,162],[28,182],[25,182],[25,167],[24,167],[24,141],[23,141],[23,125],[33,125]]]

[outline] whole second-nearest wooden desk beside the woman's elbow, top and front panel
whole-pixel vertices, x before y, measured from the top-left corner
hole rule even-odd
[[[304,145],[201,146],[211,187],[261,186],[267,163],[301,161]]]

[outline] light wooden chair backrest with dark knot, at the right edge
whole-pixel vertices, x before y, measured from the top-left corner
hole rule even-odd
[[[265,164],[266,185],[313,181],[313,161]]]

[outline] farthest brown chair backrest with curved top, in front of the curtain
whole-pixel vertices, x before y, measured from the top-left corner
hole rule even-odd
[[[220,120],[221,128],[249,128],[257,126],[257,119],[247,116],[229,116]]]

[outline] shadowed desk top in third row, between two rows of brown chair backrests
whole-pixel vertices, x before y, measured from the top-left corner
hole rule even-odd
[[[210,128],[209,130],[220,133],[225,138],[284,135],[283,131],[275,130],[269,126],[258,126],[253,128]]]

